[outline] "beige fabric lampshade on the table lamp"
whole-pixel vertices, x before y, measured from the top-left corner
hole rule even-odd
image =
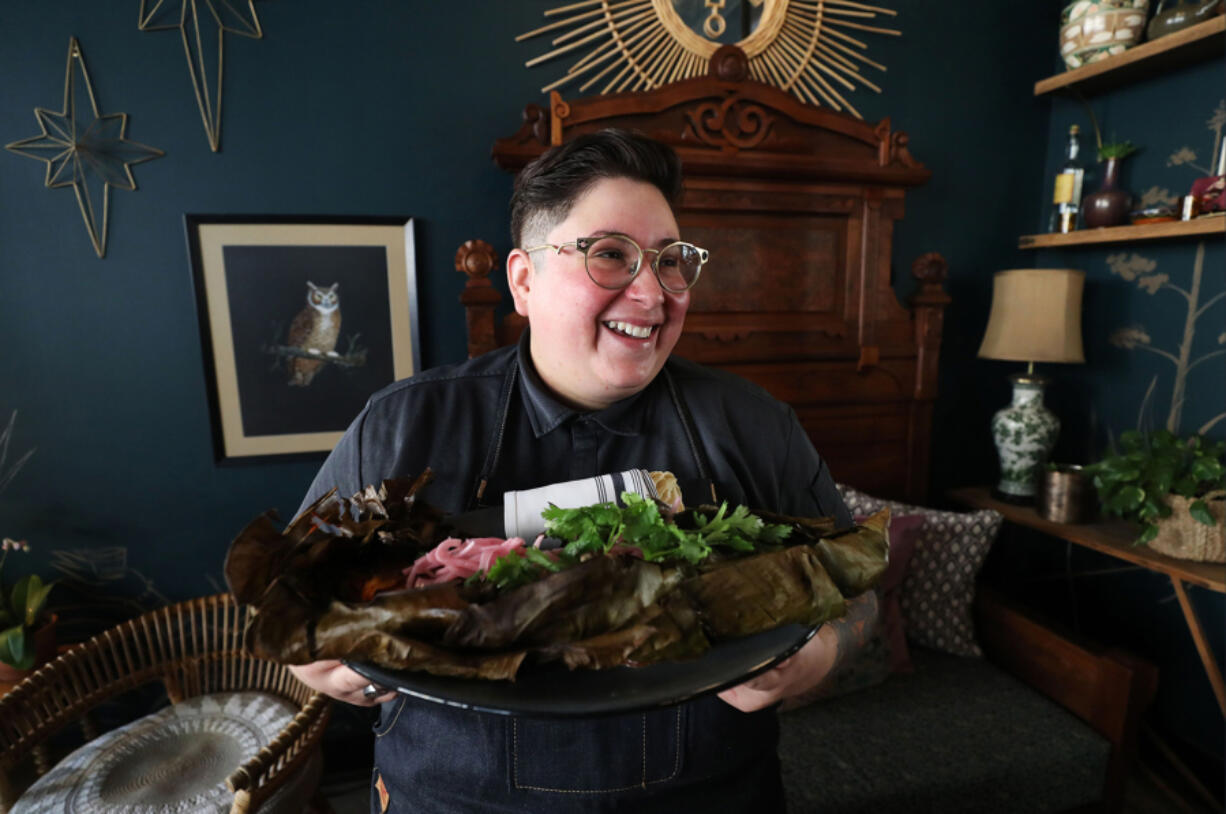
[[[1085,272],[1074,268],[998,271],[980,356],[1011,362],[1085,362],[1083,288]]]

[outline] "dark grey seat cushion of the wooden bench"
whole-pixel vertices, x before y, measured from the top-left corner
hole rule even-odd
[[[913,673],[780,715],[788,814],[1029,814],[1101,799],[1106,738],[989,662],[911,656]]]

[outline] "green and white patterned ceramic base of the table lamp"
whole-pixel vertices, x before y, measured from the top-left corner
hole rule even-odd
[[[1013,503],[1032,503],[1038,476],[1056,446],[1060,420],[1043,406],[1042,376],[1018,374],[1013,402],[992,417],[992,438],[1000,456],[997,495]]]

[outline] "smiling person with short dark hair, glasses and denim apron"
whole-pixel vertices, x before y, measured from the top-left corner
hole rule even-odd
[[[337,487],[435,481],[461,512],[631,468],[669,470],[689,503],[715,498],[851,522],[794,412],[727,373],[672,356],[690,291],[732,275],[685,242],[680,164],[642,135],[602,130],[528,164],[511,199],[506,276],[528,330],[516,347],[436,368],[373,396],[303,508]],[[711,261],[711,270],[706,268]],[[373,812],[781,812],[775,706],[855,647],[856,617],[718,695],[634,715],[532,720],[363,694],[340,662],[295,667],[316,690],[383,704]],[[862,625],[859,625],[862,626]]]

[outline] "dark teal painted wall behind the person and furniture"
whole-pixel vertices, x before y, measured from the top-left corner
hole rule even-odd
[[[44,189],[42,164],[0,154],[0,416],[20,411],[15,452],[37,447],[0,494],[0,532],[28,538],[36,561],[59,550],[64,564],[71,552],[112,592],[154,602],[218,590],[230,537],[266,509],[291,514],[318,466],[213,462],[183,215],[413,216],[423,360],[459,360],[463,277],[454,271],[455,250],[470,238],[500,254],[509,248],[510,179],[489,161],[490,146],[517,129],[525,103],[543,101],[538,88],[565,63],[526,69],[544,44],[514,42],[557,0],[257,0],[264,39],[227,44],[223,148],[213,154],[177,34],[139,32],[136,5],[0,5],[0,140],[36,135],[34,107],[59,109],[76,36],[102,110],[130,114],[129,137],[167,153],[135,168],[137,191],[112,192],[104,260],[93,255],[72,194]],[[866,119],[888,115],[908,132],[913,154],[933,172],[908,194],[894,265],[906,297],[915,257],[939,251],[950,264],[954,304],[934,429],[939,495],[994,477],[987,422],[1008,398],[1008,370],[975,358],[993,271],[1051,264],[1091,273],[1090,359],[1059,373],[1052,398],[1070,425],[1096,416],[1100,434],[1127,424],[1128,401],[1144,390],[1154,360],[1098,337],[1132,310],[1145,308],[1156,326],[1171,318],[1151,316],[1157,298],[1110,277],[1106,251],[1016,249],[1016,235],[1045,217],[1038,202],[1049,195],[1052,151],[1078,115],[1031,93],[1052,72],[1059,4],[886,5],[900,11],[904,34],[866,36],[889,71],[879,77],[883,94],[856,102]],[[1198,81],[1211,85],[1208,70]],[[1184,112],[1170,87],[1132,91],[1140,94],[1134,113],[1123,107],[1127,94],[1098,113],[1108,131],[1146,145],[1129,181],[1165,154],[1155,139],[1176,129],[1170,112],[1139,112],[1160,103]],[[1210,96],[1187,102],[1189,143],[1203,140]],[[1161,251],[1173,278],[1192,248]],[[1220,291],[1220,248],[1213,260]],[[1117,387],[1132,395],[1117,398]],[[1220,402],[1220,394],[1201,385],[1194,409],[1211,409],[1206,400]],[[1163,626],[1182,635],[1177,619]]]

